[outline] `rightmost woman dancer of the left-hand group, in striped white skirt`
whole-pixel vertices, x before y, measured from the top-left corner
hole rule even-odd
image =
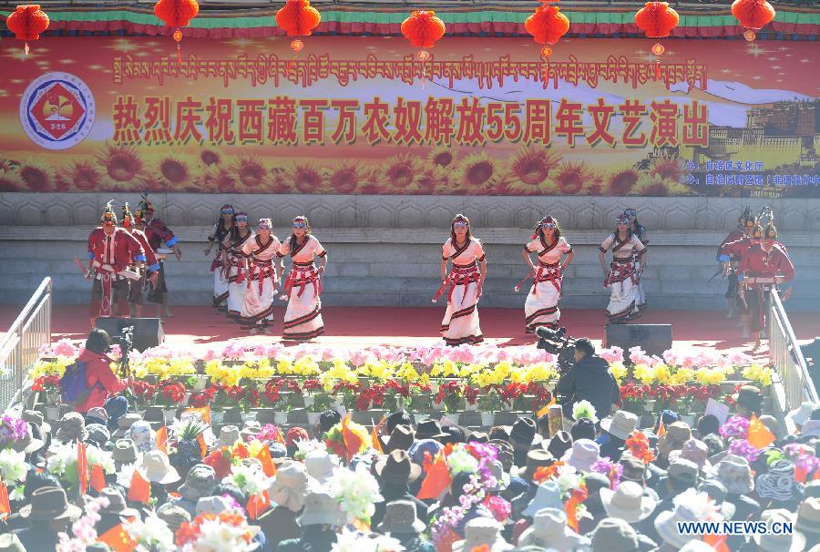
[[[327,267],[327,251],[319,240],[311,235],[311,225],[307,217],[293,219],[293,233],[284,240],[277,255],[290,255],[293,261],[291,272],[282,286],[282,301],[288,302],[285,312],[282,339],[289,341],[309,341],[324,333],[322,320],[322,275]],[[322,259],[318,269],[313,263],[314,256]]]

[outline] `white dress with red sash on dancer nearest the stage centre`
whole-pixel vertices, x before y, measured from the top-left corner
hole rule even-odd
[[[481,242],[471,238],[463,248],[457,249],[452,239],[442,248],[442,259],[453,261],[447,276],[447,310],[441,321],[441,336],[447,345],[480,343],[484,341],[478,322],[478,283],[481,274],[478,263],[487,255]]]

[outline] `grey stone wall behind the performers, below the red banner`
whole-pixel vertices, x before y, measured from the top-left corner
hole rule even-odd
[[[108,199],[138,203],[138,195],[0,194],[0,302],[23,303],[46,275],[55,281],[56,302],[87,302],[88,283],[74,257],[85,258],[88,231]],[[707,283],[717,267],[718,243],[733,230],[743,206],[763,201],[720,198],[585,198],[319,195],[155,194],[158,216],[179,236],[181,262],[166,264],[172,301],[210,300],[210,259],[205,238],[221,204],[247,210],[251,220],[272,217],[280,237],[296,214],[307,214],[330,254],[323,281],[329,305],[432,306],[438,285],[441,243],[455,212],[471,218],[487,249],[487,287],[482,304],[521,307],[526,290],[513,292],[526,267],[520,251],[535,221],[557,217],[576,251],[565,276],[565,307],[603,307],[608,294],[598,263],[598,245],[625,207],[639,211],[650,235],[644,283],[651,306],[723,307],[725,280]],[[781,239],[797,267],[790,309],[820,310],[820,200],[769,201]]]

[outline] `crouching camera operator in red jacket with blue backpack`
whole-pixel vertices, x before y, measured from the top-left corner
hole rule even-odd
[[[120,416],[128,412],[128,399],[116,396],[131,385],[131,378],[119,379],[111,370],[114,361],[108,357],[111,338],[108,332],[95,328],[88,334],[86,349],[77,358],[86,363],[86,399],[77,404],[77,412],[86,414],[89,409],[102,406],[108,413],[108,427],[117,428]]]

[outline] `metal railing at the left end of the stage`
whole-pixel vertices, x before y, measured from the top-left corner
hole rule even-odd
[[[0,341],[0,405],[24,398],[23,382],[42,345],[51,342],[51,278],[44,278]]]

